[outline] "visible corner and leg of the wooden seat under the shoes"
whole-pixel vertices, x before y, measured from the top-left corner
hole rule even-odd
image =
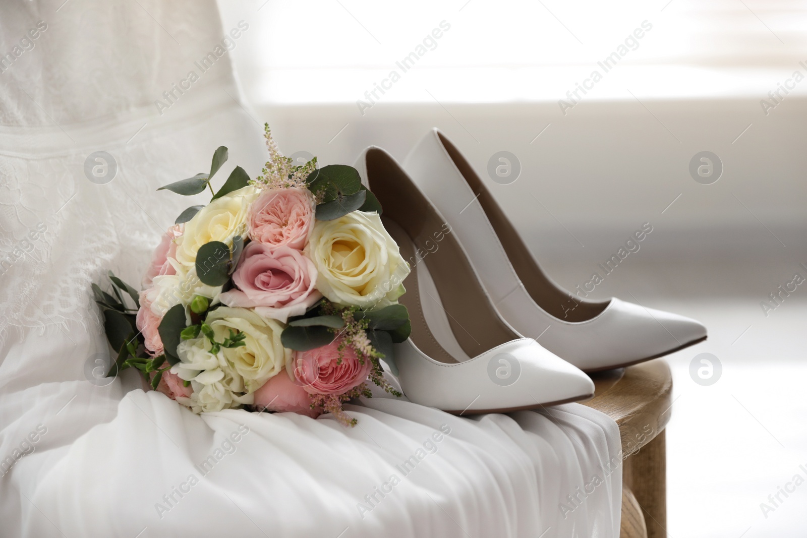
[[[663,359],[592,374],[594,398],[583,405],[619,425],[622,438],[620,538],[667,536],[667,455],[672,377]]]

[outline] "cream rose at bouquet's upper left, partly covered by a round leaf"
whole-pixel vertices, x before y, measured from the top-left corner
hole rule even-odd
[[[233,237],[245,237],[249,203],[257,198],[257,194],[255,187],[247,186],[216,198],[204,206],[193,219],[185,223],[185,231],[176,240],[177,261],[186,267],[193,267],[196,252],[199,252],[199,247],[203,244],[221,241],[231,245]]]

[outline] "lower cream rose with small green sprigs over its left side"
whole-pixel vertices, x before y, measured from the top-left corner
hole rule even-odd
[[[291,349],[283,348],[280,342],[284,326],[274,319],[265,319],[246,308],[219,307],[207,315],[206,321],[217,342],[227,339],[230,329],[236,334],[245,333],[245,345],[221,348],[220,353],[244,378],[247,392],[254,392],[280,372],[291,356]]]

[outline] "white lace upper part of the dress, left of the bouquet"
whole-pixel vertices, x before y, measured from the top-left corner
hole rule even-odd
[[[227,53],[198,66],[224,36],[215,2],[58,6],[15,2],[0,17],[0,54],[23,50],[0,73],[0,334],[97,323],[90,283],[107,269],[140,282],[161,232],[194,203],[158,186],[203,171],[228,137],[253,175],[263,158]],[[199,80],[180,94],[190,71]],[[117,165],[107,184],[86,177],[97,151]]]

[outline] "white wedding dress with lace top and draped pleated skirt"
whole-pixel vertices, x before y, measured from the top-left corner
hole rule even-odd
[[[257,24],[222,27],[211,0],[0,10],[0,535],[618,535],[619,432],[577,404],[469,419],[379,397],[349,428],[193,415],[132,370],[89,382],[90,285],[140,282],[206,202],[157,187],[220,145],[229,169],[266,160],[229,57]]]

